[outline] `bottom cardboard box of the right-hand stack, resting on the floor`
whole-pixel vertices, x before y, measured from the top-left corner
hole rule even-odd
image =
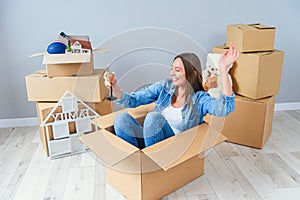
[[[272,132],[274,105],[275,96],[252,100],[236,95],[235,109],[225,118],[222,134],[228,142],[263,148]]]

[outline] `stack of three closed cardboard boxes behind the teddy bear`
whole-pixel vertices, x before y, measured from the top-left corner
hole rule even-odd
[[[262,148],[272,132],[275,95],[280,90],[283,51],[274,49],[275,28],[261,24],[227,26],[226,46],[241,52],[230,70],[235,110],[226,118],[222,133],[227,141]],[[222,53],[228,47],[214,47]]]

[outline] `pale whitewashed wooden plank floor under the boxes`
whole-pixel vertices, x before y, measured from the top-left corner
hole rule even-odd
[[[0,199],[126,199],[105,182],[92,153],[50,160],[37,127],[0,129]],[[163,200],[300,199],[300,111],[275,112],[262,150],[222,143],[204,175]]]

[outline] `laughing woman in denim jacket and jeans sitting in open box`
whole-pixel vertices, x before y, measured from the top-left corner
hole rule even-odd
[[[171,79],[130,94],[120,90],[116,79],[109,82],[104,76],[106,87],[112,86],[113,95],[117,97],[115,103],[134,108],[156,102],[154,112],[146,115],[143,127],[128,113],[117,115],[114,121],[116,135],[142,149],[203,123],[207,113],[227,116],[234,110],[228,67],[238,56],[239,52],[231,44],[219,61],[223,84],[219,100],[204,91],[200,60],[193,53],[183,53],[174,58]]]

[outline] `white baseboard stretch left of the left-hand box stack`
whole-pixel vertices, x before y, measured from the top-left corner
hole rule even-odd
[[[0,119],[0,128],[38,126],[37,117]]]

